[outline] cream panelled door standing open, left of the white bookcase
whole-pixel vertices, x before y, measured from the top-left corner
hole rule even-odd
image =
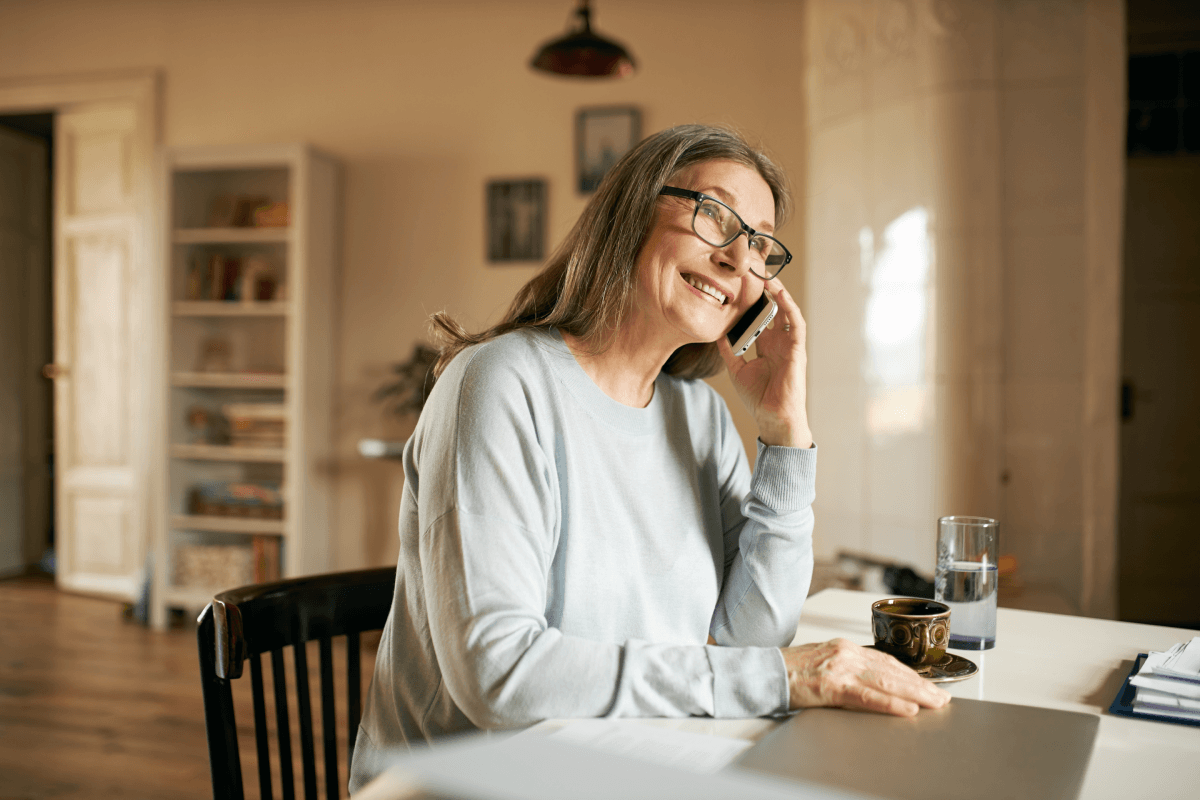
[[[55,118],[54,148],[56,577],[126,599],[146,549],[154,330],[137,125],[132,103],[77,107]]]

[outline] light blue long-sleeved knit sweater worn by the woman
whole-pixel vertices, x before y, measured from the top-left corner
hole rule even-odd
[[[786,711],[815,476],[815,447],[761,443],[751,476],[703,381],[660,375],[630,408],[557,331],[463,350],[404,447],[352,790],[383,748],[448,733]]]

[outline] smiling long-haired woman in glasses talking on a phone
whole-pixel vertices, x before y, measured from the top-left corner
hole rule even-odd
[[[949,696],[846,640],[787,646],[812,572],[804,319],[781,170],[736,134],[617,163],[502,323],[444,315],[404,447],[400,566],[352,788],[402,742],[550,717],[899,715]],[[763,291],[756,357],[726,332]],[[751,473],[724,363],[758,427]]]

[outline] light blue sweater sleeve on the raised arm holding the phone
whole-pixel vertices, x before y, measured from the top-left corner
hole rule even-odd
[[[722,645],[786,646],[812,581],[816,445],[758,441],[748,481],[742,441],[722,411],[725,581],[710,632]]]

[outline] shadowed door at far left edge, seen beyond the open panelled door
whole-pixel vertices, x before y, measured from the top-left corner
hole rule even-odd
[[[47,149],[0,128],[0,577],[41,555],[49,498],[44,363]]]

